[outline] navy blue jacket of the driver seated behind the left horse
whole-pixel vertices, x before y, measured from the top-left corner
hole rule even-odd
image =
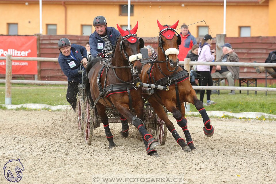
[[[108,35],[108,39],[111,44],[114,46],[116,38],[120,37],[120,32],[116,30],[114,27],[106,27],[106,34]],[[102,52],[104,48],[104,40],[100,37],[100,35],[94,31],[89,36],[89,45],[90,45],[90,53],[91,55],[96,58],[99,52]],[[98,48],[99,45],[99,48]],[[102,46],[102,48],[100,48]]]

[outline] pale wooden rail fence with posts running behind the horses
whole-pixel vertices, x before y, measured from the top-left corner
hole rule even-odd
[[[19,84],[52,84],[52,85],[67,85],[67,81],[26,81],[26,80],[11,80],[11,66],[12,60],[21,61],[48,61],[57,62],[57,58],[50,57],[12,57],[6,55],[6,57],[0,57],[0,60],[6,60],[6,78],[0,79],[0,83],[5,83],[5,104],[11,104],[11,83]],[[276,63],[244,63],[244,62],[191,62],[190,59],[185,59],[184,62],[180,61],[179,64],[190,73],[191,65],[221,65],[221,66],[264,66],[264,67],[276,67]],[[218,90],[240,90],[240,91],[273,91],[276,92],[276,88],[265,87],[234,87],[234,86],[193,86],[194,89],[218,89]]]

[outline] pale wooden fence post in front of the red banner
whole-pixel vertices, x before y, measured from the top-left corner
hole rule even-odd
[[[5,104],[11,104],[11,54],[6,55],[6,86],[5,86]]]

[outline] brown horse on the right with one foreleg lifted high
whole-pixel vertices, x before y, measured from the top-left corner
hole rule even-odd
[[[140,78],[142,83],[150,83],[156,85],[167,86],[166,90],[157,90],[156,93],[148,98],[148,101],[153,106],[157,115],[165,122],[166,127],[172,133],[177,143],[182,147],[182,150],[195,150],[191,135],[187,128],[187,119],[185,117],[184,102],[190,102],[196,106],[200,112],[204,123],[204,134],[210,137],[214,133],[214,128],[210,124],[210,119],[202,102],[197,98],[196,92],[189,82],[189,74],[184,68],[179,67],[177,55],[179,54],[178,45],[181,44],[180,35],[176,35],[176,27],[178,21],[171,27],[168,25],[162,26],[157,20],[160,28],[158,39],[158,61],[162,63],[153,63],[151,66],[143,66]],[[148,95],[143,94],[145,98]],[[164,112],[163,106],[169,112],[173,113],[173,117],[177,120],[177,124],[182,128],[186,137],[187,144],[182,139],[173,123],[168,119]]]

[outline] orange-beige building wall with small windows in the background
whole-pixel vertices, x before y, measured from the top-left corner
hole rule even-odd
[[[268,6],[269,5],[269,6]],[[239,26],[250,26],[251,36],[276,36],[275,17],[276,0],[269,4],[229,4],[226,10],[227,37],[238,37]],[[66,8],[65,8],[66,7]],[[103,11],[101,11],[103,10]],[[33,35],[39,33],[39,4],[38,3],[4,3],[0,2],[2,16],[0,34],[8,34],[7,23],[18,23],[18,34]],[[47,34],[47,24],[57,24],[57,34],[81,35],[81,25],[91,25],[93,19],[102,15],[107,18],[108,26],[116,28],[116,24],[127,25],[127,16],[119,15],[119,4],[107,3],[62,3],[45,2],[42,6],[42,34]],[[66,18],[65,18],[66,12]],[[139,21],[137,34],[139,37],[158,36],[156,20],[161,24],[172,25],[179,20],[193,24],[204,20],[209,26],[209,34],[213,37],[223,33],[223,4],[144,4],[134,3],[134,15],[131,16],[131,26]],[[66,22],[65,22],[66,20]],[[189,26],[190,32],[197,37],[198,26],[206,26],[204,22]],[[66,26],[66,28],[65,28]],[[92,32],[95,29],[92,26]],[[177,30],[180,32],[180,30]]]

